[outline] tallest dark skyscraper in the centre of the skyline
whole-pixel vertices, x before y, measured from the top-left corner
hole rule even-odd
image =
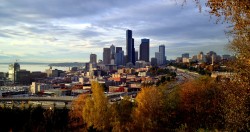
[[[133,63],[133,60],[134,60],[133,51],[134,51],[134,46],[133,46],[132,30],[127,30],[126,31],[126,55],[127,55],[126,63],[129,63],[129,62]]]

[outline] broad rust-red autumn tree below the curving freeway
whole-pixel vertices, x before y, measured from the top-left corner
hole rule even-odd
[[[222,90],[210,77],[201,77],[181,85],[180,111],[182,124],[192,131],[198,128],[224,129]]]

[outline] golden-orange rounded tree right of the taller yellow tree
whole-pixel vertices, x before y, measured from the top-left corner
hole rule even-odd
[[[156,87],[142,88],[136,97],[137,107],[133,113],[135,131],[163,130],[163,94]]]

